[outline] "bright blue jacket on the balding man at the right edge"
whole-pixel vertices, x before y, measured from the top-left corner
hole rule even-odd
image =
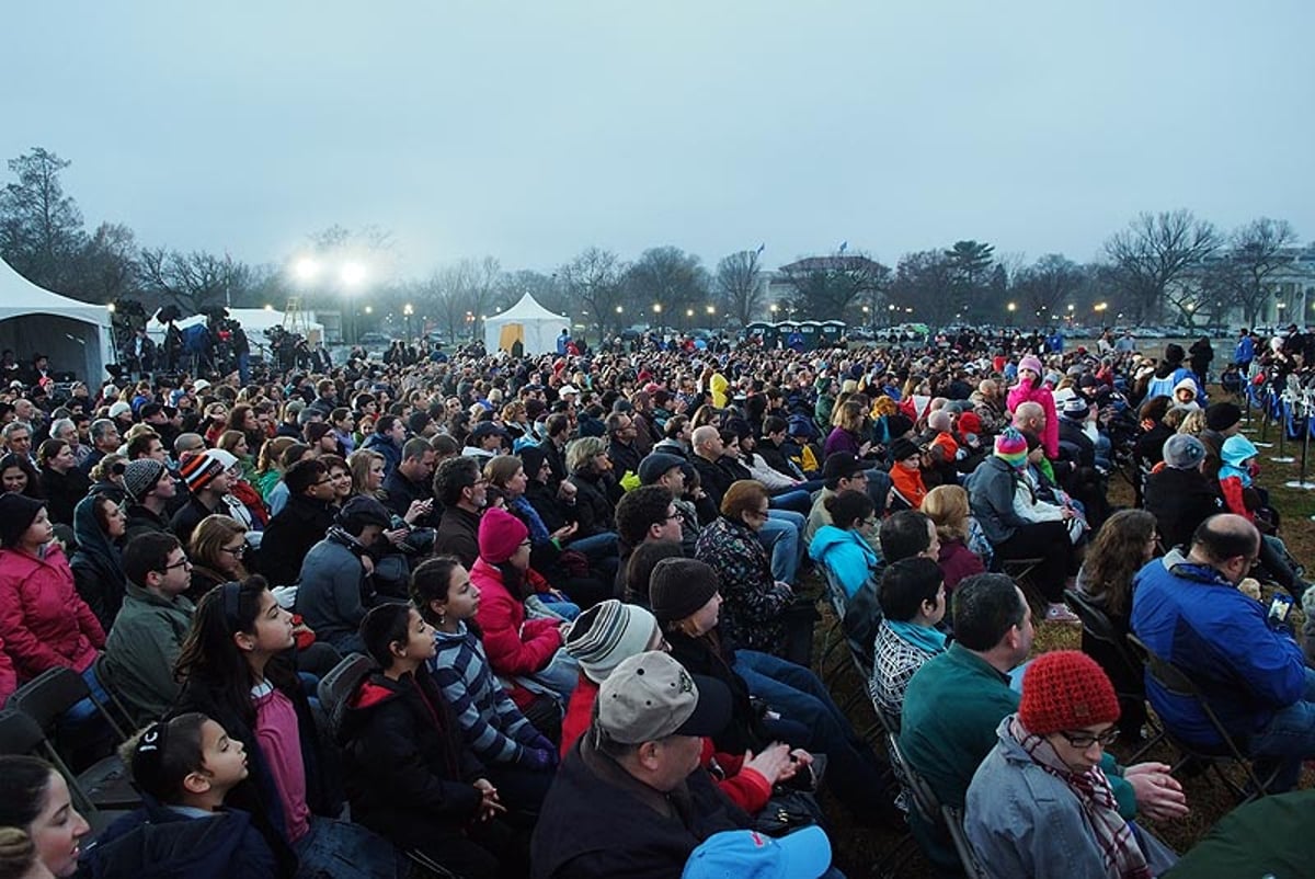
[[[1152,653],[1185,668],[1231,734],[1249,736],[1306,692],[1302,650],[1272,629],[1265,605],[1239,592],[1214,568],[1173,551],[1134,580],[1132,632]],[[1187,742],[1222,743],[1191,699],[1170,696],[1147,675],[1147,697],[1160,720]]]

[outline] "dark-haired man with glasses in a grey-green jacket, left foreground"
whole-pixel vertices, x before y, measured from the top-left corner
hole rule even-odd
[[[159,718],[178,696],[174,663],[196,608],[183,595],[192,563],[172,534],[153,532],[124,547],[128,595],[105,638],[104,671],[135,725]]]

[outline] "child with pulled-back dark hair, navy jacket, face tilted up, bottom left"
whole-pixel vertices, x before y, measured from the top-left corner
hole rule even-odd
[[[121,750],[145,805],[124,816],[87,853],[89,875],[153,875],[220,879],[291,876],[296,858],[256,829],[224,797],[246,778],[242,742],[205,715],[189,712],[151,724]]]

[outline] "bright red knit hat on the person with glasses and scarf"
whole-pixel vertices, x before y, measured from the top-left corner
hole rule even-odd
[[[1034,659],[1023,674],[1018,718],[1038,736],[1112,724],[1119,718],[1119,697],[1095,659],[1077,650],[1053,650]]]

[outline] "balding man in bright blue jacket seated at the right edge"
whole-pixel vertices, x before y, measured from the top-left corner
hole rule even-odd
[[[1228,733],[1257,758],[1272,790],[1297,784],[1315,757],[1315,671],[1265,605],[1237,591],[1260,555],[1260,532],[1241,516],[1211,516],[1187,555],[1172,551],[1137,574],[1132,632],[1152,653],[1182,668],[1203,691]],[[1165,726],[1201,747],[1222,746],[1194,699],[1173,696],[1149,676],[1147,697]]]

